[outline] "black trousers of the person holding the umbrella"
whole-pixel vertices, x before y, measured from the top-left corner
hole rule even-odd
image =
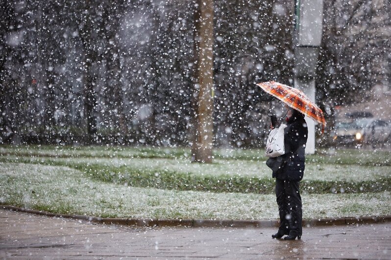
[[[280,214],[279,230],[287,235],[301,236],[303,210],[299,181],[276,179],[275,195]]]

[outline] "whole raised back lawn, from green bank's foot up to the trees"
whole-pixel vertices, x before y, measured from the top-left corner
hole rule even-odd
[[[114,151],[114,152],[113,152]],[[44,165],[67,166],[77,169],[96,180],[129,184],[135,187],[153,187],[180,191],[213,191],[237,193],[273,192],[274,180],[263,160],[249,157],[249,150],[226,152],[217,156],[213,164],[190,163],[185,149],[139,148],[61,148],[39,150],[37,148],[1,148],[0,161],[24,162]],[[220,153],[220,151],[218,151]],[[119,155],[121,153],[121,155]],[[80,155],[83,154],[83,155]],[[137,154],[137,156],[135,155]],[[350,155],[349,155],[350,154]],[[28,155],[28,156],[26,156]],[[94,156],[93,156],[94,155]],[[127,156],[126,156],[127,155]],[[379,156],[380,155],[380,156]],[[308,156],[302,190],[308,193],[363,193],[389,191],[391,166],[387,165],[389,153],[365,153],[356,151],[333,155]],[[153,157],[155,156],[155,157]],[[164,158],[167,156],[167,158]],[[245,157],[248,159],[233,159]],[[334,159],[330,159],[334,157]],[[357,164],[357,158],[362,163]],[[379,159],[383,157],[383,159]],[[325,159],[327,158],[327,160]],[[330,164],[329,162],[336,162]],[[383,161],[383,166],[379,165]],[[372,165],[372,166],[371,166]]]

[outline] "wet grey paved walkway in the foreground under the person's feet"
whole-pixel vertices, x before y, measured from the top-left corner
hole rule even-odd
[[[391,259],[386,223],[304,227],[301,240],[276,228],[103,225],[0,210],[0,259]]]

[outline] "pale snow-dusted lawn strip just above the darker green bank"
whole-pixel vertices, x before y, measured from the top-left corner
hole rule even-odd
[[[14,156],[2,156],[9,160],[15,159]],[[236,175],[250,176],[258,178],[269,178],[270,169],[266,166],[266,160],[223,160],[215,159],[213,164],[191,163],[186,158],[102,158],[102,157],[27,157],[20,156],[18,160],[31,163],[60,164],[64,166],[99,165],[101,169],[123,170],[124,172],[138,171],[142,173],[189,173],[196,175]],[[121,171],[119,170],[119,171]],[[308,161],[306,162],[305,178],[306,180],[321,181],[368,181],[379,180],[382,177],[388,177],[391,173],[391,166],[362,166],[345,164],[325,164]]]

